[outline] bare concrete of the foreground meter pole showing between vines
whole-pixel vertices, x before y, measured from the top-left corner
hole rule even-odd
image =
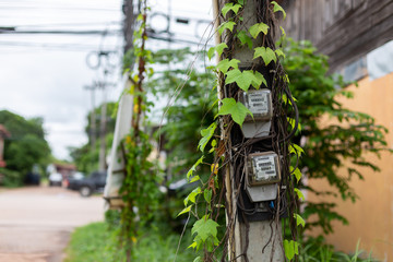
[[[231,2],[229,0],[213,0],[213,5],[215,7],[215,17],[221,15],[221,9],[225,3]],[[265,0],[247,0],[245,1],[245,8],[242,12],[243,22],[239,22],[237,28],[247,29],[258,21],[258,10],[261,10],[264,4],[269,3]],[[267,7],[264,7],[267,8]],[[260,17],[261,19],[261,17]],[[224,21],[221,20],[221,23]],[[237,31],[234,28],[234,32]],[[228,37],[223,35],[222,39],[218,38],[218,41],[228,40]],[[230,48],[230,44],[227,43]],[[253,40],[254,47],[262,46],[262,39],[257,38]],[[224,57],[224,59],[227,57]],[[247,45],[243,47],[235,46],[231,53],[231,59],[238,59],[241,62],[239,63],[239,69],[257,69],[262,68],[262,71],[267,71],[261,60],[253,60],[253,50],[249,49]],[[229,58],[229,59],[230,59]],[[269,81],[267,81],[269,83]],[[223,94],[230,94],[224,83],[221,84],[218,90],[218,96],[222,99]],[[239,130],[234,130],[231,132],[239,132]],[[241,135],[241,133],[240,133]],[[224,133],[225,139],[231,139],[234,135]],[[231,144],[231,142],[229,142]],[[284,251],[282,245],[282,226],[281,222],[276,221],[258,221],[258,222],[239,222],[238,213],[240,212],[238,207],[238,194],[235,186],[235,170],[236,166],[230,166],[226,170],[226,192],[227,192],[227,218],[234,224],[228,224],[229,227],[229,237],[228,237],[228,253],[229,261],[241,261],[241,262],[261,262],[261,261],[274,261],[274,262],[284,262]],[[240,189],[242,190],[242,189]],[[247,259],[241,254],[247,254]]]

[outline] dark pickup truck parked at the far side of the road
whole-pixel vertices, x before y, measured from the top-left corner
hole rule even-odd
[[[94,192],[103,192],[106,183],[106,171],[94,171],[82,179],[70,179],[67,188],[76,190],[82,196],[90,196]]]

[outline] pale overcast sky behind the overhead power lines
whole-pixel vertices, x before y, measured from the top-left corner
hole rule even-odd
[[[153,13],[170,13],[190,19],[188,25],[171,24],[179,39],[198,41],[206,24],[196,26],[195,19],[211,20],[211,0],[155,0]],[[195,4],[198,3],[198,4]],[[0,26],[17,31],[121,28],[122,0],[0,0]],[[160,26],[159,16],[152,26]],[[194,19],[194,20],[192,20]],[[47,140],[58,158],[68,158],[68,146],[86,143],[86,114],[91,109],[90,93],[83,88],[103,80],[98,70],[86,66],[91,52],[115,50],[114,71],[107,76],[117,83],[108,92],[109,100],[121,93],[119,72],[122,35],[0,34],[0,110],[7,109],[26,118],[43,117]],[[153,48],[167,48],[165,41],[151,41]],[[171,44],[170,47],[181,46]],[[94,55],[92,55],[94,58]],[[96,94],[96,105],[102,100]]]

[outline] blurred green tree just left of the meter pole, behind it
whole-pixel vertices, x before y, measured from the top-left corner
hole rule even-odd
[[[172,99],[159,131],[168,151],[167,164],[175,176],[180,176],[201,156],[196,150],[201,130],[209,127],[217,114],[214,106],[217,94],[209,88],[215,79],[211,71],[203,70],[201,55],[195,58],[188,48],[158,50],[153,59],[157,67],[167,67],[156,72],[147,85],[157,98]],[[189,71],[188,67],[194,70]]]

